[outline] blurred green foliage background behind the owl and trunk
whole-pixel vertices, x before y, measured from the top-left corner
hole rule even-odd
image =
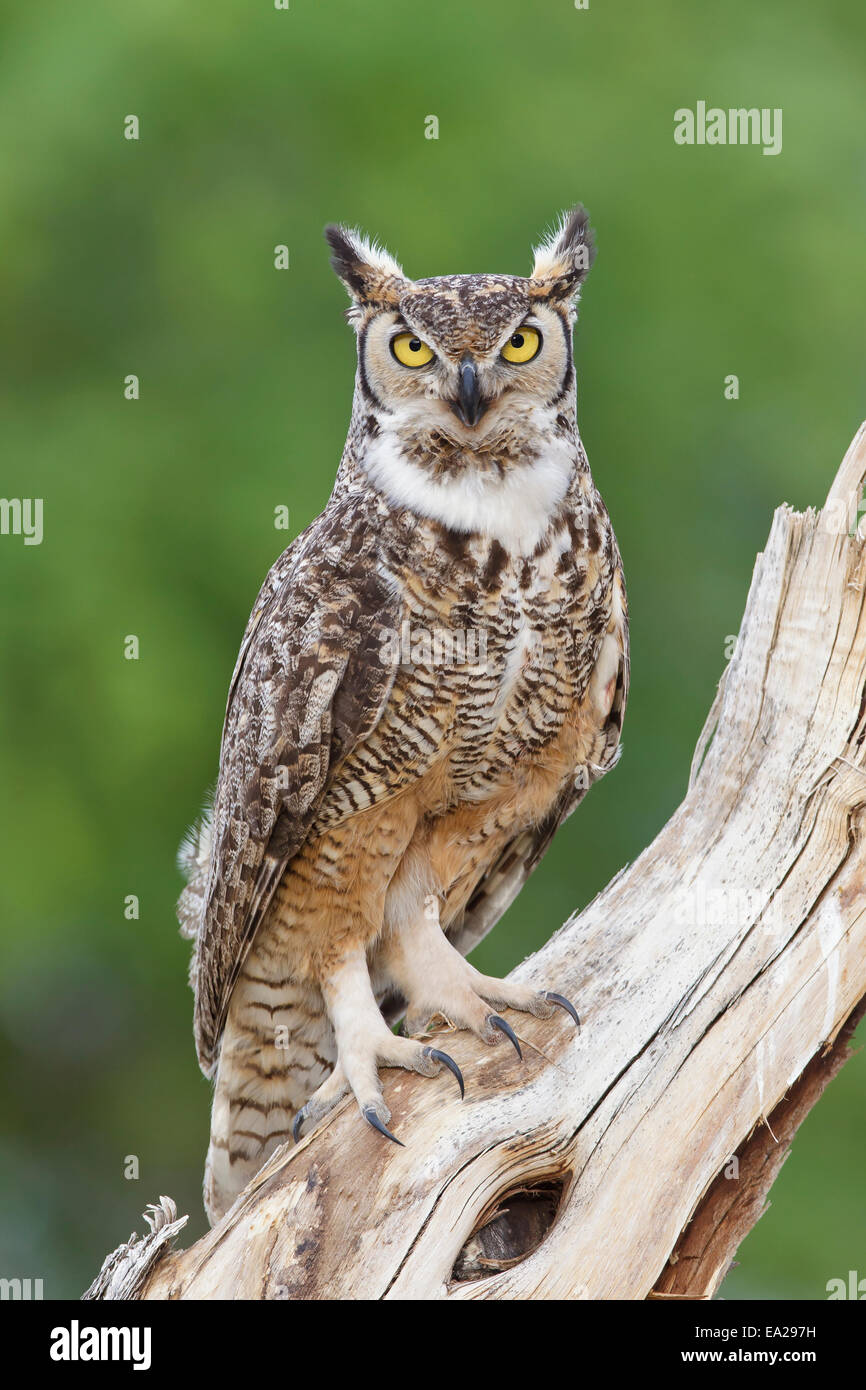
[[[44,541],[0,538],[0,1273],[63,1297],[161,1193],[189,1240],[204,1229],[175,851],[260,581],[345,438],[353,342],[322,224],[360,224],[418,277],[525,272],[575,199],[596,228],[580,424],[631,599],[626,756],[478,951],[506,972],[677,806],[773,509],[822,502],[866,414],[866,14],[46,0],[3,29],[1,491],[44,499]],[[676,146],[699,99],[781,107],[783,153]],[[727,1297],[866,1273],[865,1097],[858,1056]]]

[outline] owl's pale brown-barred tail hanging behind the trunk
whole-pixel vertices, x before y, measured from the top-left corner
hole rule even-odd
[[[274,976],[256,954],[238,980],[215,1073],[204,1208],[211,1226],[263,1163],[292,1138],[292,1120],[329,1074],[336,1048],[318,990]]]

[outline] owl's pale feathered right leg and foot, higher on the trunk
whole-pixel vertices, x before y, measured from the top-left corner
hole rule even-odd
[[[549,1019],[555,1008],[564,1009],[580,1026],[573,1005],[560,994],[535,990],[513,980],[481,974],[450,944],[439,926],[435,898],[428,898],[424,912],[393,930],[382,945],[379,967],[407,1001],[406,1031],[420,1033],[434,1015],[441,1013],[457,1029],[468,1029],[484,1042],[510,1037],[520,1054],[520,1044],[498,1009],[517,1009]]]

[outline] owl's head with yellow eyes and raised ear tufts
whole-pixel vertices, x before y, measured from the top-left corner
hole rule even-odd
[[[359,391],[377,423],[407,441],[432,431],[477,450],[537,432],[539,407],[563,409],[577,297],[594,259],[582,207],[535,249],[527,277],[413,281],[359,232],[328,227],[325,238],[352,297]]]

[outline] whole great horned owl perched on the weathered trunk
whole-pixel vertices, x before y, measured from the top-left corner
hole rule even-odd
[[[585,211],[528,278],[411,281],[357,232],[325,236],[357,334],[349,438],[256,600],[213,813],[182,852],[211,1222],[349,1091],[393,1138],[381,1068],[445,1063],[463,1090],[430,1020],[518,1048],[495,1011],[574,1012],[464,955],[616,762],[628,688],[575,418]]]

